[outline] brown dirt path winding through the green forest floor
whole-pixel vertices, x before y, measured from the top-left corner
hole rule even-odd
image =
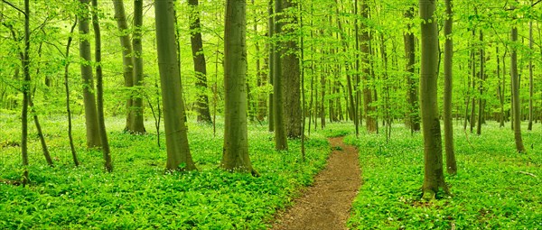
[[[293,207],[278,215],[271,229],[347,229],[351,203],[361,184],[358,150],[342,143],[342,137],[329,142],[333,152],[327,167]]]

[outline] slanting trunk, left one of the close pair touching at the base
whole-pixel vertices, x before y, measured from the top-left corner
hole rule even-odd
[[[128,90],[128,98],[126,99],[126,127],[125,132],[132,133],[132,123],[134,117],[132,113],[133,109],[133,97],[134,97],[134,59],[132,43],[130,42],[130,33],[128,32],[128,23],[126,23],[126,12],[124,2],[122,0],[112,0],[115,7],[115,20],[117,21],[118,32],[120,33],[120,45],[122,46],[122,62],[123,62],[123,76],[125,80],[125,87]]]

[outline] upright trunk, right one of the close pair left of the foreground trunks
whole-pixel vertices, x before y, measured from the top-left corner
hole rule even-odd
[[[143,1],[134,0],[134,37],[132,46],[134,47],[134,95],[132,95],[131,133],[146,133],[144,124],[144,104],[143,104]]]

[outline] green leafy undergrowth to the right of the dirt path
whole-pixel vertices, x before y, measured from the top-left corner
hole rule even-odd
[[[458,125],[459,126],[459,125]],[[353,203],[352,229],[542,229],[542,132],[523,128],[527,153],[515,151],[509,126],[482,127],[481,136],[454,130],[458,173],[446,175],[452,197],[421,199],[423,140],[403,125],[345,142],[360,149],[363,185]],[[445,165],[445,163],[444,163]]]

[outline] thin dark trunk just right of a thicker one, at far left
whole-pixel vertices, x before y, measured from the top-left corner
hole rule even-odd
[[[104,116],[104,87],[101,68],[101,33],[98,22],[98,0],[92,0],[92,26],[94,27],[95,60],[96,60],[96,93],[98,102],[98,132],[101,137],[102,152],[104,155],[104,168],[107,172],[113,171],[111,152],[107,141],[106,122]]]

